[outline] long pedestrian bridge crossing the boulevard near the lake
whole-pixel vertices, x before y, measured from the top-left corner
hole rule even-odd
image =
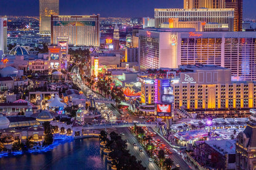
[[[83,126],[82,129],[105,129],[105,128],[124,128],[124,127],[130,127],[130,126],[156,126],[158,123],[108,123],[108,124],[103,124],[103,125],[85,125]]]

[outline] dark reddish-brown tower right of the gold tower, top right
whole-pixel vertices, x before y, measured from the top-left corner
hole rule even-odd
[[[234,31],[242,31],[242,0],[226,0],[225,8],[234,9]]]

